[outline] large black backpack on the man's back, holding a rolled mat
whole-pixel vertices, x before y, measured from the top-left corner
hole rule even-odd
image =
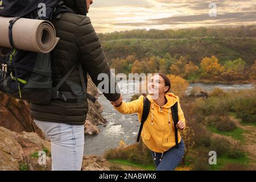
[[[46,16],[38,16],[38,5],[46,5]],[[9,0],[2,2],[0,16],[15,17],[9,25],[9,41],[12,48],[0,47],[0,91],[12,97],[26,100],[35,104],[49,104],[53,98],[61,98],[64,101],[85,100],[89,98],[93,102],[96,99],[86,93],[84,73],[81,63],[77,62],[61,78],[58,84],[52,85],[52,61],[49,53],[37,53],[22,51],[13,46],[11,31],[13,24],[19,18],[53,20],[60,18],[65,12],[74,13],[72,9],[59,0]],[[71,75],[76,67],[79,67],[81,85],[75,82],[67,82],[72,92],[59,92],[59,88]]]

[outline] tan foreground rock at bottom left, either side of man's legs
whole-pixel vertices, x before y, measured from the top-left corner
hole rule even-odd
[[[48,151],[44,166],[38,163],[38,152]],[[51,170],[51,143],[36,133],[16,133],[0,127],[0,171]],[[82,170],[109,171],[111,164],[99,155],[84,156]]]

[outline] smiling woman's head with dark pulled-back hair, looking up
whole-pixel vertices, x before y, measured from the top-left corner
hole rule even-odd
[[[159,75],[154,75],[150,78],[148,83],[148,93],[151,95],[164,94],[169,89],[169,86],[166,86],[164,79]]]

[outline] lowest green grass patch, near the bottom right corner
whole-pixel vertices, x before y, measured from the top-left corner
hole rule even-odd
[[[217,164],[216,165],[210,165],[210,169],[213,171],[218,171],[220,168],[224,167],[228,163],[234,163],[234,164],[241,164],[242,166],[247,166],[247,164],[250,162],[247,155],[242,156],[238,159],[232,159],[229,158],[228,154],[217,156]]]

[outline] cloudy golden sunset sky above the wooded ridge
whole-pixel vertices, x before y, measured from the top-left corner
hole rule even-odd
[[[98,33],[242,26],[256,24],[256,0],[93,0],[88,16]]]

